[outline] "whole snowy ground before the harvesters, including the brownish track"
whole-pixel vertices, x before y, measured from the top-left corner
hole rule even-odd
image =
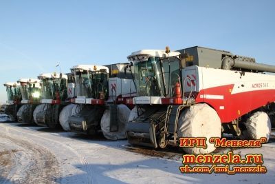
[[[0,183],[274,183],[274,139],[234,152],[263,154],[267,173],[181,174],[179,152],[130,149],[127,141],[0,123]]]

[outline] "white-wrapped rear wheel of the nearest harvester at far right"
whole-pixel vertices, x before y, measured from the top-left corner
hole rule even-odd
[[[244,139],[270,139],[271,122],[265,112],[255,112],[245,122],[246,130],[243,132]]]

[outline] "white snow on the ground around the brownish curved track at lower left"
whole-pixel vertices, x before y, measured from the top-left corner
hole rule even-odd
[[[70,132],[60,132],[47,127],[26,127],[19,123],[0,123],[0,135],[34,145],[36,150],[44,149],[56,156],[60,183],[274,183],[275,143],[261,148],[236,149],[234,153],[263,154],[266,174],[181,174],[181,154],[166,157],[147,156],[129,150],[127,141],[106,141],[87,139]],[[0,138],[2,145],[14,149],[10,141]],[[19,144],[19,143],[17,143]],[[149,149],[150,150],[150,149]],[[23,154],[23,153],[22,153]],[[16,153],[16,156],[20,156]],[[21,165],[28,163],[28,152],[21,159]],[[25,160],[25,162],[23,162]],[[32,160],[32,159],[31,159]],[[20,166],[28,168],[27,166]],[[19,181],[19,170],[6,178],[6,183]]]

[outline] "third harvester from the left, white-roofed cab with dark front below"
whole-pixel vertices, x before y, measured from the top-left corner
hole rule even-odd
[[[60,127],[59,114],[67,104],[67,75],[40,74],[41,104],[34,110],[34,122],[51,128]]]

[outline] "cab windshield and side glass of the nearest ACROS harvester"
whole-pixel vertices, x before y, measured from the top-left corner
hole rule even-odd
[[[134,64],[137,96],[173,96],[177,81],[180,82],[179,59],[148,57]]]

